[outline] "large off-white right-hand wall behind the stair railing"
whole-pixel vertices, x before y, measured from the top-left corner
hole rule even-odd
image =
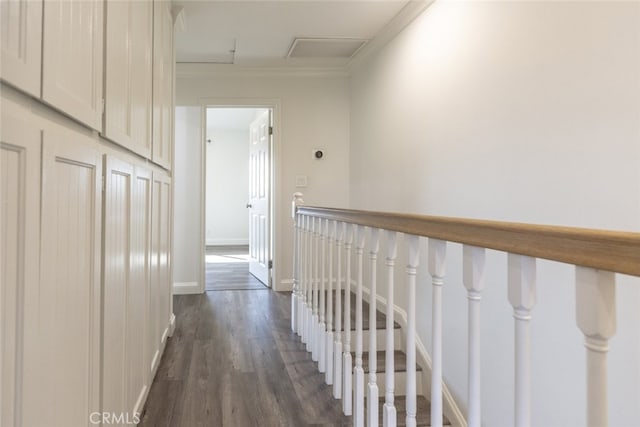
[[[435,2],[353,73],[351,207],[640,231],[639,22],[637,2]],[[423,249],[418,328],[430,348]],[[449,252],[444,375],[464,409],[466,296],[461,249]],[[538,266],[533,424],[585,425],[573,269]],[[610,420],[629,426],[640,419],[640,280],[618,283]],[[504,254],[488,254],[482,310],[483,425],[510,426]]]

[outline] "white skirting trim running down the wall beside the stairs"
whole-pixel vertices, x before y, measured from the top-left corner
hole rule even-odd
[[[351,287],[355,286],[355,281],[351,280]],[[362,288],[362,299],[369,302],[371,300],[371,290],[368,288]],[[386,311],[387,309],[387,299],[382,297],[381,295],[377,295],[376,304],[378,305],[378,309]],[[402,330],[403,336],[403,347],[404,347],[404,339],[406,331],[407,331],[407,312],[398,307],[397,305],[393,305],[394,319],[396,322],[400,324],[400,329]],[[418,394],[422,396],[426,396],[427,398],[431,395],[431,356],[427,352],[426,347],[420,340],[420,337],[416,335],[416,359],[418,365],[422,367],[422,390],[418,391]],[[454,427],[467,427],[467,420],[464,417],[464,414],[458,407],[453,395],[449,391],[449,387],[443,381],[442,383],[442,396],[443,396],[443,404],[444,404],[444,414],[451,422],[451,425]]]

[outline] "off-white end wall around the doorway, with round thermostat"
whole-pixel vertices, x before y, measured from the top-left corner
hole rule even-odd
[[[290,216],[291,198],[295,191],[305,194],[305,201],[314,205],[345,206],[348,203],[348,163],[349,163],[349,91],[348,80],[344,75],[327,74],[279,74],[272,73],[239,73],[197,71],[195,73],[184,64],[178,64],[176,80],[176,105],[178,109],[188,107],[184,111],[188,117],[184,123],[189,131],[183,136],[191,138],[187,144],[192,147],[198,144],[201,126],[201,106],[211,102],[212,98],[225,99],[232,104],[246,103],[247,99],[261,98],[276,100],[281,110],[277,113],[280,123],[276,123],[274,135],[274,278],[276,290],[290,289],[292,277],[293,231]],[[202,68],[200,68],[202,70]],[[176,126],[178,124],[176,123]],[[279,127],[278,127],[279,126]],[[180,137],[176,133],[176,160],[180,150]],[[312,158],[313,148],[324,148],[325,159]],[[189,201],[193,208],[200,203],[197,200],[200,185],[200,167],[198,158],[191,158],[191,163],[179,165],[176,162],[176,185],[179,177],[187,177],[189,192],[194,199]],[[296,188],[296,175],[307,175],[308,187]],[[176,186],[176,193],[178,188]],[[176,201],[177,202],[177,201]],[[201,233],[191,226],[186,226],[176,214],[175,234],[183,230],[181,239],[188,242],[189,249],[174,253],[174,271],[184,272],[186,277],[199,278],[199,266],[195,265],[197,257],[190,258],[199,250]],[[176,281],[178,276],[174,277]],[[186,281],[186,280],[185,280]]]

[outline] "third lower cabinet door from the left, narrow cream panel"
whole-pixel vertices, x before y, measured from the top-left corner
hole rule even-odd
[[[133,167],[112,156],[105,161],[103,251],[102,411],[128,412],[130,241]]]

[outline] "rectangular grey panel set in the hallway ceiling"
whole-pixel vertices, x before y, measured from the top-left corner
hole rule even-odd
[[[351,58],[366,43],[350,38],[297,38],[287,58]]]

